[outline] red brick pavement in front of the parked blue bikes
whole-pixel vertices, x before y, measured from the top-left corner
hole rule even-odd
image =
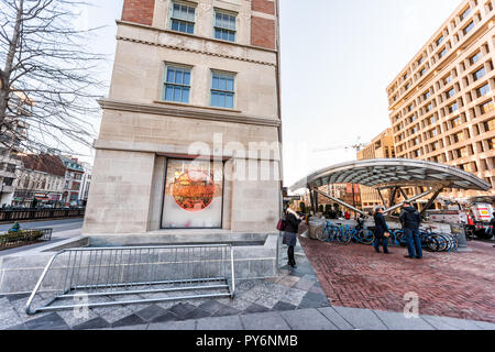
[[[299,238],[333,306],[403,311],[406,293],[419,296],[419,314],[495,322],[495,249],[469,242],[472,252],[430,253],[422,261]]]

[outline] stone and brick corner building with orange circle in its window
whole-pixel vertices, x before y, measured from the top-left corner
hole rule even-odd
[[[124,0],[84,233],[275,232],[278,47],[277,0]]]

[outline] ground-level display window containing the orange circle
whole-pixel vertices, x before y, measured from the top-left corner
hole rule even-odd
[[[167,161],[163,228],[220,229],[222,202],[222,162]]]

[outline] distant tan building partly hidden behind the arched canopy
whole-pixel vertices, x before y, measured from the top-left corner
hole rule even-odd
[[[358,152],[358,160],[394,158],[394,138],[392,129],[386,129],[375,136],[366,146]],[[387,196],[384,191],[383,195]],[[361,186],[361,208],[372,211],[375,206],[383,205],[382,198],[376,189]]]

